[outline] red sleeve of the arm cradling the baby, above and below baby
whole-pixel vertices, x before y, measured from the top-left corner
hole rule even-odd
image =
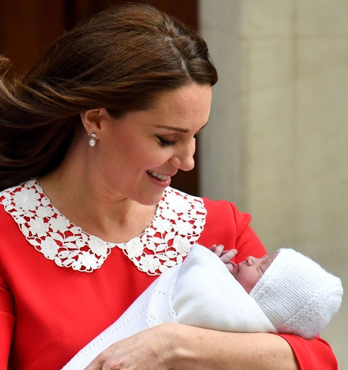
[[[198,243],[210,247],[223,244],[225,249],[236,248],[236,263],[248,256],[262,257],[265,249],[249,226],[251,216],[239,212],[237,207],[226,201],[204,198],[207,209],[206,224]],[[338,364],[329,344],[321,338],[306,340],[289,334],[277,334],[290,345],[300,370],[337,370]]]

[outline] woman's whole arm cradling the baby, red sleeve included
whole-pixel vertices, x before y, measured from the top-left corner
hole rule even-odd
[[[225,212],[222,211],[224,207]],[[265,253],[249,226],[249,215],[239,213],[233,204],[227,202],[219,202],[216,209],[215,213],[208,210],[204,234],[198,240],[200,244],[209,247],[218,243],[226,249],[236,248],[236,262],[249,255],[261,257]],[[87,370],[111,368],[333,370],[337,369],[337,362],[331,348],[320,339],[309,341],[289,335],[227,333],[169,323],[111,345]]]

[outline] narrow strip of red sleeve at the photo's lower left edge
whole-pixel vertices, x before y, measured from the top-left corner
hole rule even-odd
[[[0,277],[0,370],[7,369],[14,324],[12,296]]]

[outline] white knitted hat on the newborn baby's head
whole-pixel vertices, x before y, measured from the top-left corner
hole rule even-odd
[[[279,249],[250,295],[279,333],[320,334],[342,301],[341,279],[293,249]]]

